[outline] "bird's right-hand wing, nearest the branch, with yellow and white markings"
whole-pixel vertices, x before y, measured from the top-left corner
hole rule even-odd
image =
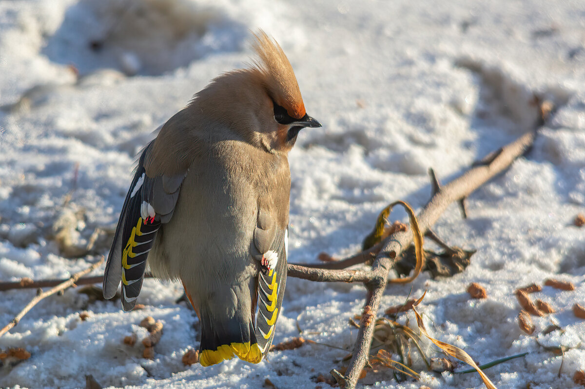
[[[258,273],[256,340],[263,353],[270,349],[283,302],[287,279],[288,227],[279,228],[270,214],[260,210],[252,255],[261,261]]]

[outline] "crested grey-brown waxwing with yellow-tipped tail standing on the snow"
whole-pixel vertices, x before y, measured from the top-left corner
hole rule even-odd
[[[132,310],[148,267],[183,284],[201,323],[199,362],[259,363],[270,349],[287,277],[288,152],[305,127],[292,66],[263,30],[256,56],[174,114],[140,154],[104,273]]]

